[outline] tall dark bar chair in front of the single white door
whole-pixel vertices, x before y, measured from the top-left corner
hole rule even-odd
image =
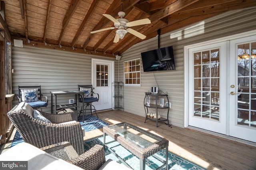
[[[96,109],[92,105],[92,102],[98,102],[99,101],[99,94],[93,92],[92,85],[78,85],[78,89],[79,89],[79,91],[84,91],[84,106],[85,106],[84,110],[85,110],[85,113],[86,113],[86,110],[90,110],[91,114],[93,112],[95,112],[96,116],[98,117]],[[96,98],[94,97],[94,94],[97,95]],[[79,102],[83,102],[82,101],[82,96],[80,96]],[[90,109],[86,109],[87,107],[90,107]],[[80,110],[80,114],[81,113],[82,113],[82,109]],[[80,114],[79,114],[79,116],[80,116]]]

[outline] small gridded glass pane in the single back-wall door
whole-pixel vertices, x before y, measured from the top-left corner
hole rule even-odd
[[[96,64],[96,86],[108,86],[108,65]]]

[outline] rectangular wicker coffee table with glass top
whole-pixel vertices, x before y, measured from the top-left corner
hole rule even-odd
[[[114,141],[106,143],[106,135],[112,137]],[[122,147],[136,155],[140,159],[140,170],[145,170],[146,158],[154,156],[158,151],[165,149],[165,160],[158,156],[154,156],[154,158],[163,163],[158,169],[161,169],[164,166],[168,167],[169,141],[130,123],[122,122],[103,127],[103,140],[105,147],[107,147],[109,143],[118,142]],[[110,152],[112,152],[122,163],[130,167],[110,147],[108,147],[108,150],[110,150]]]

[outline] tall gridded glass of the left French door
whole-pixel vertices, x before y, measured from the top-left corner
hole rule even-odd
[[[219,70],[219,49],[194,53],[194,116],[220,120]]]

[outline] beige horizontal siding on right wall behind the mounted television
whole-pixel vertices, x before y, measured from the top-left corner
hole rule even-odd
[[[145,116],[145,92],[152,86],[159,86],[168,93],[172,107],[169,120],[175,126],[184,127],[184,46],[250,31],[256,28],[256,8],[236,10],[218,15],[194,25],[160,35],[160,48],[173,46],[176,70],[143,72],[141,67],[141,86],[124,86],[124,111]],[[141,59],[142,52],[158,48],[158,37],[132,46],[122,54],[119,79],[124,81],[123,62]],[[141,61],[142,62],[142,61]],[[160,114],[166,117],[166,112]]]

